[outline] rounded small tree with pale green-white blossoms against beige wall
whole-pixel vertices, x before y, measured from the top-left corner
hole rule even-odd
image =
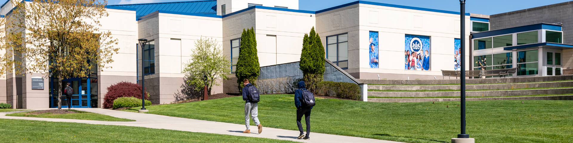
[[[221,45],[213,38],[201,37],[195,41],[195,49],[192,49],[191,59],[185,64],[183,72],[186,73],[187,85],[194,90],[203,90],[207,86],[207,93],[211,95],[213,85],[221,85],[215,80],[229,80],[229,57],[223,54]]]

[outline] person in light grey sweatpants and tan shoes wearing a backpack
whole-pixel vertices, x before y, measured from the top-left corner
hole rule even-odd
[[[245,101],[245,126],[247,129],[243,133],[250,133],[249,128],[249,114],[250,118],[253,118],[253,122],[258,127],[258,133],[262,132],[262,125],[258,121],[258,106],[257,102],[259,101],[258,90],[253,86],[253,84],[249,83],[249,80],[243,80],[243,85],[245,88],[242,89],[243,91],[243,100]]]

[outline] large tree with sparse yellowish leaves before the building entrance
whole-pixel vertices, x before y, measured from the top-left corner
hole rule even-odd
[[[5,39],[0,46],[0,73],[42,73],[61,80],[88,77],[92,68],[113,62],[117,39],[101,31],[107,0],[54,0],[20,2],[2,21]],[[61,109],[61,93],[58,109]]]

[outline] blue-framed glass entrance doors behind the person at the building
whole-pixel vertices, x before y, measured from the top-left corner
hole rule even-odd
[[[58,79],[50,78],[50,107],[58,108]],[[92,108],[92,99],[97,101],[97,95],[91,95],[91,81],[96,79],[91,79],[87,77],[83,78],[68,78],[62,80],[62,86],[65,88],[66,83],[71,83],[73,94],[72,94],[72,108]],[[97,84],[97,83],[94,83]],[[63,89],[63,88],[61,88]],[[95,98],[94,98],[95,97]],[[62,93],[62,108],[68,108],[68,101],[66,96]],[[95,105],[97,107],[97,105]]]

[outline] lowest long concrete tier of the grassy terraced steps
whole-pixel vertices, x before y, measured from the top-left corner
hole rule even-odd
[[[571,96],[533,96],[533,97],[489,97],[466,98],[466,101],[485,100],[573,100]],[[460,98],[368,98],[368,102],[434,102],[434,101],[460,101]]]

